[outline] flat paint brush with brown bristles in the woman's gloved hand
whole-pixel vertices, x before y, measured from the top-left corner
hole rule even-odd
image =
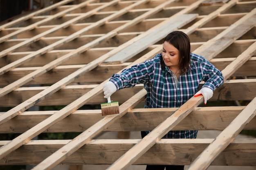
[[[101,114],[102,116],[119,114],[118,102],[111,102],[110,97],[108,97],[108,103],[101,104]]]

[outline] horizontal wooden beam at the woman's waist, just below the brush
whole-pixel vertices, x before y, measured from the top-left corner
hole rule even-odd
[[[244,108],[245,106],[198,107],[173,130],[223,130]],[[104,131],[151,131],[176,110],[177,108],[132,109]],[[0,133],[23,133],[55,112],[54,110],[24,112],[0,125]],[[102,119],[100,109],[76,110],[44,132],[83,132],[100,119]],[[76,124],[69,124],[69,122],[76,122]],[[256,130],[256,117],[245,126],[244,130]]]

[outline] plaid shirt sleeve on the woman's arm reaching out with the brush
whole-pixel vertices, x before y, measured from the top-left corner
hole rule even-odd
[[[117,90],[150,82],[154,75],[154,62],[158,60],[157,57],[156,55],[151,60],[126,68],[120,74],[112,75],[110,81],[116,85]]]

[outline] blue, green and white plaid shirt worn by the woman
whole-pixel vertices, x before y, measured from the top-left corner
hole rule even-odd
[[[180,75],[179,80],[167,66],[162,69],[160,57],[162,54],[157,54],[153,59],[124,69],[121,74],[114,74],[110,81],[117,90],[144,84],[147,91],[144,108],[180,107],[198,91],[201,81],[205,82],[203,87],[213,91],[224,82],[222,73],[200,55],[191,53],[190,70]],[[170,131],[163,138],[195,138],[197,132]]]

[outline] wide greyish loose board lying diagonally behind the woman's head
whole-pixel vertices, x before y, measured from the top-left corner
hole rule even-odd
[[[116,53],[115,55],[109,57],[102,64],[120,64],[126,62],[134,55],[147,49],[150,45],[153,45],[159,40],[162,40],[164,37],[166,37],[168,33],[175,31],[186,25],[187,23],[191,22],[197,16],[197,14],[182,14],[171,19],[169,22],[153,31],[149,30],[150,33],[148,33],[145,37],[134,41],[132,44],[127,46],[119,53]]]

